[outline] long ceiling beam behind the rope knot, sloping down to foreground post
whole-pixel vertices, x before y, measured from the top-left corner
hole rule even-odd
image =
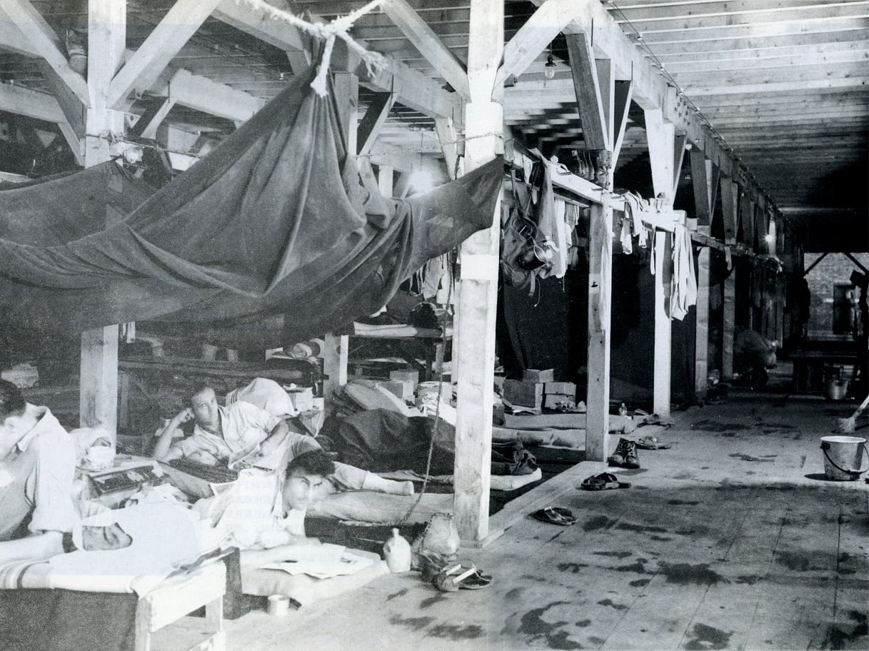
[[[223,0],[214,16],[282,50],[303,50],[305,47],[305,41],[295,27],[272,20],[266,13],[248,5],[242,7],[235,0]],[[361,44],[364,46],[364,43]],[[349,56],[341,41],[335,43],[333,56],[336,59],[346,59]],[[364,64],[360,64],[356,72],[359,74],[360,83],[374,90],[395,90],[399,96],[398,101],[411,109],[428,116],[451,117],[458,124],[463,121],[464,101],[461,96],[443,90],[441,84],[434,79],[411,70],[391,57],[387,57],[386,70],[378,74],[368,74]]]

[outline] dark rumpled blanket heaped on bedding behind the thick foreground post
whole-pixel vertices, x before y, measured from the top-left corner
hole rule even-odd
[[[329,418],[317,440],[338,455],[338,461],[381,473],[414,470],[425,473],[434,417],[408,418],[387,409],[370,409],[343,418]],[[455,428],[439,421],[434,435],[429,475],[452,475]],[[530,475],[537,460],[520,442],[493,444],[493,475]]]

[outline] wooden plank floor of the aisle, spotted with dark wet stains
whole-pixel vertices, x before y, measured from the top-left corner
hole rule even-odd
[[[574,526],[526,518],[463,550],[490,588],[391,575],[230,621],[228,648],[867,649],[869,485],[825,481],[819,450],[852,409],[752,394],[689,409],[660,435],[673,448],[620,471],[631,488],[557,498]]]

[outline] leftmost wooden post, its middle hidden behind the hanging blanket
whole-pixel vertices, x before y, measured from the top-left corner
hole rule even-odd
[[[123,63],[126,8],[114,0],[90,0],[88,7],[88,87],[84,164],[93,167],[109,160],[109,132],[123,135],[123,113],[110,110],[109,83]],[[108,218],[108,215],[107,215]],[[79,375],[79,421],[83,427],[102,427],[117,434],[116,325],[82,333]]]

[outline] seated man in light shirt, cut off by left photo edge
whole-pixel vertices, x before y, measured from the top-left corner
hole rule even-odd
[[[115,527],[78,528],[74,540],[75,473],[75,444],[55,416],[0,380],[0,565],[74,548],[129,546],[129,536]]]

